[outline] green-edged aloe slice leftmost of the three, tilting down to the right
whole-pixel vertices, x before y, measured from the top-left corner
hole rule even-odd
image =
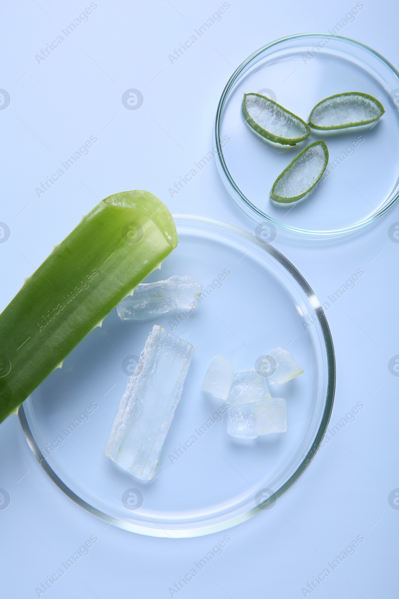
[[[295,146],[310,134],[304,120],[259,93],[244,94],[242,113],[255,132],[275,143]]]

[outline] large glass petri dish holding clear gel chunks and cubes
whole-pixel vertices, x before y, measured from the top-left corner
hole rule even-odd
[[[194,537],[272,509],[296,482],[327,429],[335,361],[318,300],[278,250],[239,226],[174,218],[178,246],[146,281],[196,277],[203,283],[197,309],[124,321],[113,310],[22,404],[19,418],[39,464],[88,512],[135,533]],[[190,341],[196,352],[156,476],[144,482],[103,454],[154,324]],[[254,368],[278,346],[304,370],[285,385],[269,385],[273,397],[287,402],[287,431],[230,436],[223,401],[202,391],[209,364],[222,354],[234,370]]]

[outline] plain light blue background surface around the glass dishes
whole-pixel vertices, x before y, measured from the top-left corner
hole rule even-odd
[[[38,64],[36,53],[90,2],[39,4],[1,3],[0,87],[11,103],[0,111],[0,220],[11,237],[0,245],[0,310],[98,198],[121,190],[148,189],[171,211],[253,230],[221,188],[213,162],[173,199],[168,188],[211,150],[218,99],[242,60],[277,38],[327,32],[356,2],[232,0],[223,19],[173,65],[168,55],[223,2],[99,0],[89,20]],[[394,2],[365,0],[342,33],[398,67],[398,13]],[[144,96],[139,110],[121,102],[130,88]],[[91,135],[98,141],[89,155],[38,198],[35,187]],[[337,361],[331,423],[360,401],[364,409],[320,450],[275,509],[237,530],[197,539],[154,539],[105,527],[53,485],[11,416],[0,426],[0,487],[11,495],[10,506],[0,510],[2,595],[37,597],[36,586],[95,535],[89,555],[49,597],[170,597],[168,588],[229,534],[223,553],[181,591],[186,598],[303,597],[301,588],[357,536],[364,542],[355,555],[313,592],[319,599],[396,597],[399,510],[388,504],[389,492],[399,488],[399,378],[388,371],[389,359],[399,354],[399,244],[388,237],[396,221],[399,205],[340,243],[275,241],[321,303],[364,270],[327,312]]]

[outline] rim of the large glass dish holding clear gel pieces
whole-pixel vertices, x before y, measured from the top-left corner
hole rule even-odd
[[[173,220],[175,222],[184,223],[193,223],[194,225],[202,225],[211,227],[214,229],[222,229],[223,231],[231,232],[233,234],[239,235],[239,237],[245,238],[247,241],[254,243],[260,249],[263,249],[267,253],[269,253],[273,258],[278,261],[288,273],[291,274],[294,280],[300,285],[301,289],[306,294],[306,297],[312,305],[313,310],[315,310],[316,317],[319,322],[319,326],[322,332],[322,338],[325,344],[325,352],[327,358],[327,394],[325,397],[325,406],[323,415],[321,418],[321,422],[316,433],[315,439],[313,440],[312,446],[307,452],[306,456],[304,456],[303,461],[300,463],[299,467],[291,474],[290,478],[275,491],[275,496],[269,498],[259,506],[255,506],[247,510],[246,512],[241,513],[239,516],[234,516],[233,518],[226,519],[215,524],[205,524],[199,527],[193,528],[179,528],[179,529],[158,529],[148,527],[144,524],[134,524],[133,522],[126,521],[121,518],[111,518],[107,513],[102,512],[98,508],[90,505],[83,498],[79,497],[72,489],[66,485],[62,479],[57,475],[57,473],[51,468],[48,464],[45,456],[39,449],[31,428],[29,428],[28,420],[26,418],[25,410],[23,404],[19,407],[18,416],[20,420],[20,424],[22,426],[22,430],[25,434],[26,440],[28,441],[29,447],[35,455],[35,458],[39,462],[39,465],[44,469],[44,471],[50,476],[51,480],[63,491],[72,501],[78,504],[78,506],[83,507],[87,512],[91,513],[93,516],[97,516],[100,520],[106,522],[107,524],[112,524],[118,528],[122,528],[124,530],[128,530],[134,533],[144,534],[145,536],[151,537],[163,537],[163,538],[189,538],[189,537],[199,537],[206,534],[216,533],[218,531],[227,530],[233,525],[241,524],[246,519],[255,516],[257,513],[261,512],[265,507],[269,504],[276,501],[276,498],[281,497],[291,486],[299,479],[301,474],[303,474],[304,470],[306,470],[307,466],[312,461],[313,457],[316,455],[319,445],[321,444],[322,438],[324,437],[325,431],[327,431],[328,422],[330,421],[331,411],[333,409],[334,403],[334,392],[335,392],[335,384],[336,384],[336,362],[335,362],[335,353],[334,353],[334,345],[333,339],[331,337],[330,327],[328,326],[327,319],[324,314],[324,310],[321,307],[316,295],[314,294],[312,288],[310,288],[309,284],[300,274],[300,272],[294,267],[291,262],[285,258],[285,256],[279,252],[275,247],[271,244],[267,244],[266,246],[260,241],[257,240],[254,234],[246,229],[243,229],[239,225],[234,225],[233,223],[228,223],[220,219],[215,219],[209,216],[203,216],[200,214],[188,214],[188,213],[172,213]]]

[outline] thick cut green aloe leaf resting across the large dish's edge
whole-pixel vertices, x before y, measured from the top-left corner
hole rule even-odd
[[[177,245],[147,191],[111,195],[83,217],[0,314],[0,422]]]

